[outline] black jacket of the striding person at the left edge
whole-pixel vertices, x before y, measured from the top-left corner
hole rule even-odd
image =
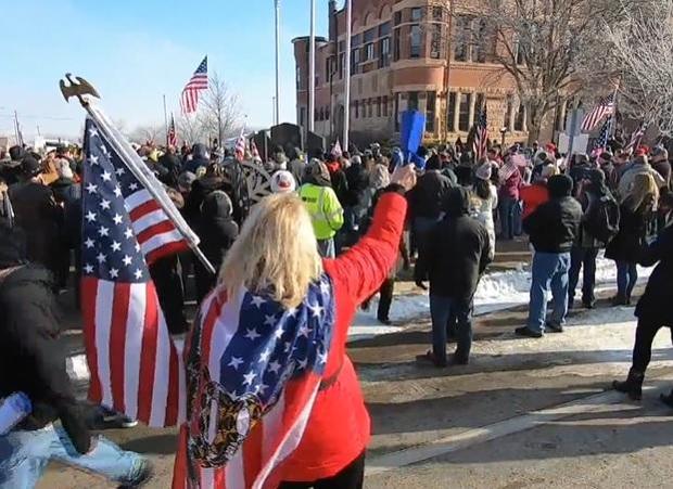
[[[37,265],[17,268],[0,284],[0,398],[25,393],[33,412],[17,429],[40,429],[60,419],[75,449],[86,453],[91,438],[65,369],[66,352],[58,343],[52,285],[51,273]]]

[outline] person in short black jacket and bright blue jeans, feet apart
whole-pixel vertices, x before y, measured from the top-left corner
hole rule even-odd
[[[535,248],[533,256],[531,305],[525,326],[517,329],[520,336],[539,338],[545,327],[561,333],[568,314],[568,272],[570,250],[580,233],[582,206],[571,197],[573,182],[564,175],[555,175],[547,182],[549,202],[538,206],[523,221],[523,230]],[[554,312],[547,321],[547,293],[551,288]]]

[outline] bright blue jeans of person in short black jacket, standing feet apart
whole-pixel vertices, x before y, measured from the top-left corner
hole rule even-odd
[[[549,322],[557,326],[562,326],[566,323],[569,270],[570,253],[535,252],[528,320],[529,330],[536,333],[545,332],[549,289],[551,289],[551,297],[554,298],[554,311]]]

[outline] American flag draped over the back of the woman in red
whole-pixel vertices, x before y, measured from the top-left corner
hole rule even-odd
[[[206,297],[186,344],[189,417],[174,489],[278,487],[276,468],[302,440],[318,394],[333,321],[326,275],[292,309],[245,288]]]

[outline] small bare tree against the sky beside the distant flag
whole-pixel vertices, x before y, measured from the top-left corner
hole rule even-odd
[[[239,127],[239,100],[229,91],[226,81],[216,73],[208,80],[208,90],[201,99],[199,119],[205,132],[217,134],[221,141]]]

